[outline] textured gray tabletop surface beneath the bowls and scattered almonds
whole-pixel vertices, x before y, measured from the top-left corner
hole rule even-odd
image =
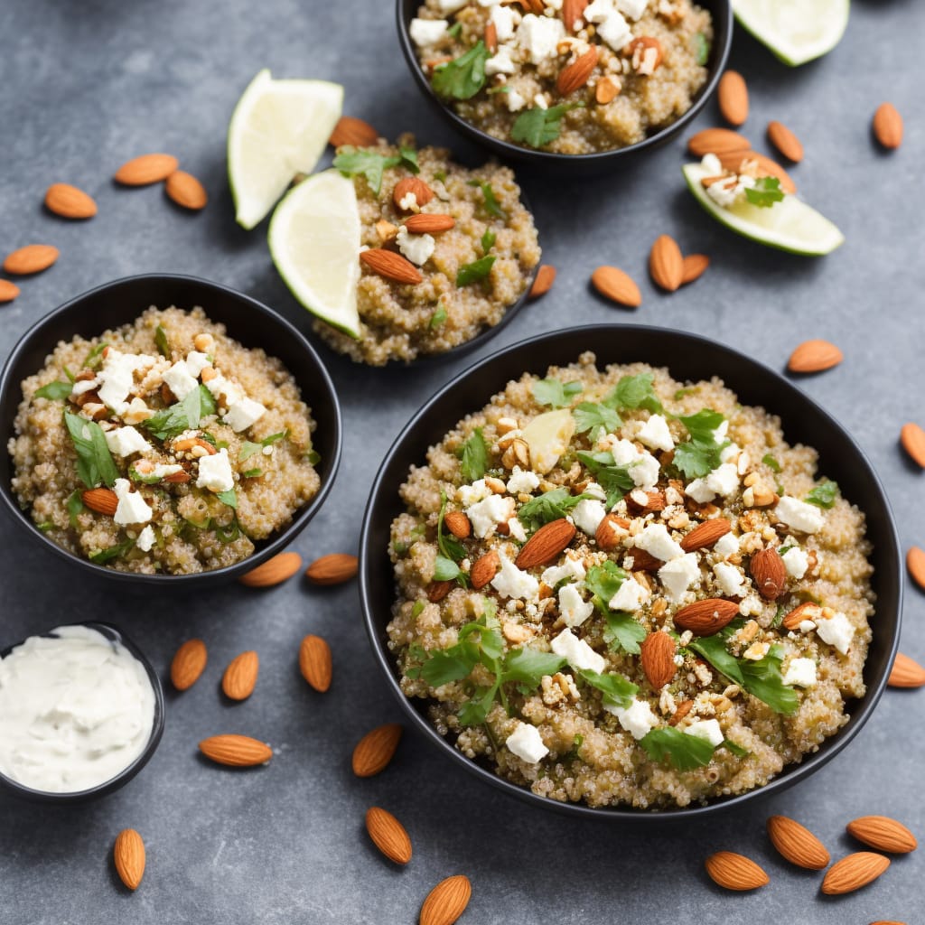
[[[573,322],[621,321],[713,336],[783,367],[796,343],[833,339],[845,363],[801,388],[858,439],[887,487],[904,546],[925,542],[922,475],[898,449],[900,425],[922,410],[925,367],[920,179],[925,130],[920,84],[925,6],[856,0],[844,41],[820,62],[788,69],[736,31],[733,65],[752,95],[747,133],[780,118],[803,139],[794,170],[805,198],[845,231],[832,256],[772,252],[714,225],[685,192],[679,140],[641,166],[588,182],[524,183],[536,209],[555,289],[530,305],[491,347]],[[346,87],[345,111],[381,131],[472,149],[422,105],[399,53],[392,3],[381,0],[0,0],[0,252],[56,244],[57,265],[22,283],[0,307],[0,355],[44,313],[107,280],[155,270],[216,279],[277,308],[303,330],[308,318],[277,278],[265,227],[233,220],[225,131],[240,92],[259,69]],[[906,116],[902,149],[882,154],[870,115],[890,99]],[[708,107],[697,128],[714,124]],[[188,215],[162,189],[127,191],[110,178],[148,151],[178,154],[211,195]],[[67,223],[43,212],[46,186],[69,181],[96,197],[100,214]],[[648,247],[670,232],[686,251],[712,257],[707,275],[672,296],[645,272]],[[645,302],[614,309],[587,290],[599,264],[623,266]],[[483,348],[484,355],[489,348]],[[470,360],[391,373],[330,363],[343,405],[344,460],[326,506],[299,537],[306,560],[352,551],[379,459],[413,410]],[[514,372],[514,371],[512,371]],[[897,858],[866,891],[836,901],[819,876],[787,866],[764,835],[767,815],[806,822],[838,857],[860,814],[894,814],[925,835],[920,799],[922,694],[889,691],[855,743],[808,782],[748,812],[655,833],[576,823],[499,796],[409,734],[377,778],[350,772],[355,741],[401,712],[376,673],[356,586],[319,590],[290,581],[266,593],[230,586],[158,599],[125,586],[81,581],[76,571],[0,521],[4,601],[0,646],[57,622],[104,618],[129,630],[159,670],[179,641],[201,635],[203,680],[168,694],[164,740],[126,788],[83,808],[50,810],[0,795],[0,922],[410,923],[431,886],[452,873],[473,882],[466,922],[857,922],[916,919],[920,857]],[[925,660],[925,603],[909,588],[902,648]],[[335,682],[318,696],[296,668],[307,632],[327,636]],[[223,702],[223,666],[245,648],[261,657],[254,696]],[[279,754],[253,772],[197,757],[220,732],[255,734]],[[397,870],[363,828],[367,807],[405,822],[414,857]],[[137,894],[112,871],[116,833],[137,828],[148,870]],[[702,858],[730,848],[771,873],[757,894],[726,894]]]

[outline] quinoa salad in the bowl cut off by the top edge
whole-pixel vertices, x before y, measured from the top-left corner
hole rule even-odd
[[[691,0],[426,0],[409,27],[434,93],[522,147],[641,142],[707,82],[709,12]]]

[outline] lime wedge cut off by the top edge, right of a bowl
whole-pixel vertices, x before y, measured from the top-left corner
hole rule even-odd
[[[733,0],[739,24],[793,68],[832,51],[848,8],[849,0]]]

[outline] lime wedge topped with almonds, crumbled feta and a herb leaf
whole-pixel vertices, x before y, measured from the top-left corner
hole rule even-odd
[[[761,208],[748,202],[737,202],[729,208],[713,202],[700,182],[709,176],[699,164],[683,167],[690,191],[711,216],[734,231],[761,244],[791,253],[820,256],[832,253],[845,242],[845,236],[832,222],[796,196],[784,196],[783,202]]]

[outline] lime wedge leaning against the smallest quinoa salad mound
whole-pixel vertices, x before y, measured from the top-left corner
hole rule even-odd
[[[270,219],[270,255],[292,294],[312,314],[360,336],[360,210],[353,181],[337,170],[302,180]]]

